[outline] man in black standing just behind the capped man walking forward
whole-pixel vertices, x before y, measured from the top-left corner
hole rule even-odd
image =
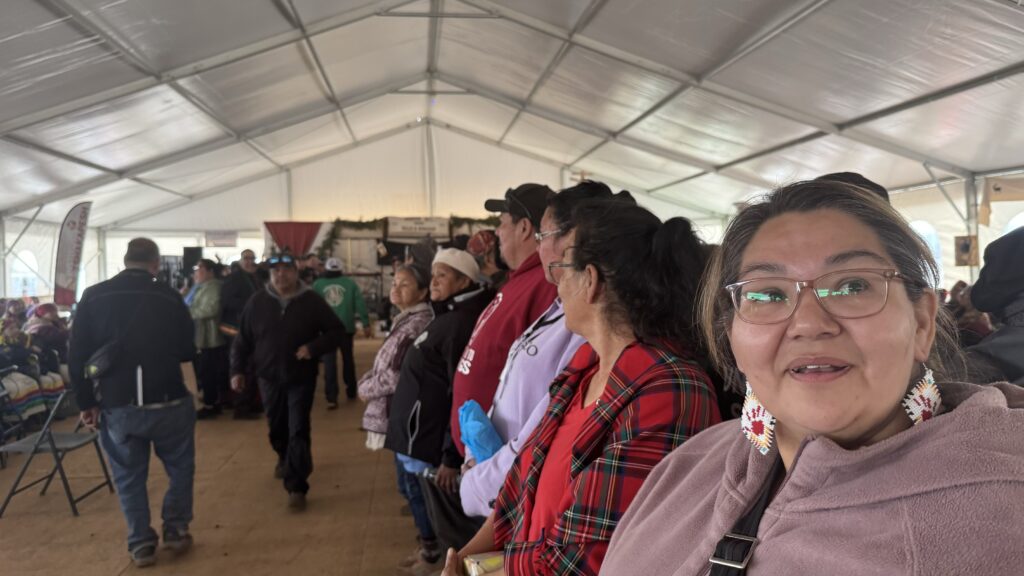
[[[231,349],[234,336],[239,333],[239,323],[242,321],[242,311],[245,310],[246,302],[263,288],[263,280],[260,279],[258,272],[256,252],[243,250],[239,259],[239,270],[231,272],[220,289],[220,331],[227,339],[228,351]],[[246,377],[252,378],[251,367],[246,371]],[[259,386],[246,386],[246,389],[234,396],[236,419],[259,418],[262,413]]]

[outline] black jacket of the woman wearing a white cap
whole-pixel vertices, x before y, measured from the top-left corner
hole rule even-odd
[[[401,363],[385,448],[434,466],[462,464],[449,425],[452,380],[476,319],[494,297],[490,289],[478,288],[432,304],[434,319]]]

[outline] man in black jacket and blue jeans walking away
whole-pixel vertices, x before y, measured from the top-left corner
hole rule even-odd
[[[191,545],[196,410],[181,363],[195,355],[195,333],[181,296],[157,282],[157,244],[132,240],[124,262],[124,272],[82,295],[70,370],[82,421],[99,428],[114,472],[128,523],[128,553],[142,567],[157,561],[145,487],[151,450],[169,480],[161,512],[164,547],[183,552]],[[101,366],[102,358],[109,367],[101,374],[93,371],[89,381],[86,366]]]

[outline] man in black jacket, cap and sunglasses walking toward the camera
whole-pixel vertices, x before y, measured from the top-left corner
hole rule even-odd
[[[299,282],[295,258],[271,256],[270,283],[242,313],[231,345],[231,388],[247,385],[246,366],[255,363],[270,446],[278,453],[274,477],[283,479],[289,506],[305,508],[313,470],[309,412],[316,392],[316,359],[338,347],[344,325],[324,298]]]

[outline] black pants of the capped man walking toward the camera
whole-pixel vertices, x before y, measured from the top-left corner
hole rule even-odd
[[[313,471],[309,411],[316,379],[281,384],[260,379],[259,389],[270,426],[270,446],[285,465],[285,489],[305,494],[309,491],[306,481]]]

